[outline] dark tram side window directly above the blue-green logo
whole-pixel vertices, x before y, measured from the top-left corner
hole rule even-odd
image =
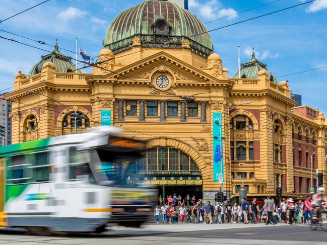
[[[33,166],[33,180],[35,182],[49,181],[48,152],[35,154],[35,166]]]

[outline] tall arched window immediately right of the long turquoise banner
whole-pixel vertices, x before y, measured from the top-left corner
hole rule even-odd
[[[249,134],[244,134],[241,140],[237,138],[238,130],[249,132],[253,131],[253,123],[243,115],[237,115],[230,120],[229,128],[233,130],[234,140],[230,142],[231,160],[254,160],[254,143],[253,139],[248,138]],[[236,137],[235,137],[236,136]]]

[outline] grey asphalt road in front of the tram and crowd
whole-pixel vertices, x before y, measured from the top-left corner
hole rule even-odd
[[[297,244],[314,241],[315,245],[327,244],[327,232],[311,231],[304,225],[264,224],[175,224],[145,225],[142,229],[113,227],[102,234],[69,236],[33,236],[19,232],[0,233],[0,244]]]

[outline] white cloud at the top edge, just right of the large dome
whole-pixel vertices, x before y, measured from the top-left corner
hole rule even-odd
[[[190,0],[188,7],[198,12],[206,20],[215,20],[223,17],[228,17],[228,19],[237,18],[237,12],[234,9],[222,9],[222,4],[218,0],[209,0],[205,3],[200,3],[198,0]]]

